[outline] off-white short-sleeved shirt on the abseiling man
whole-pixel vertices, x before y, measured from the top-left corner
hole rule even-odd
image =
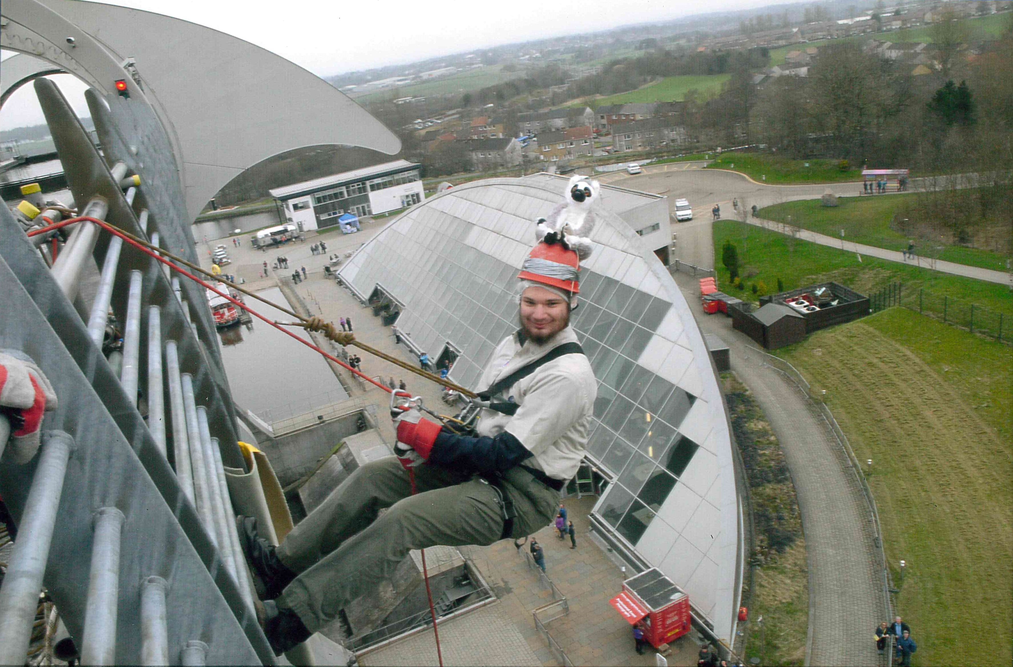
[[[576,343],[576,335],[569,326],[545,345],[528,340],[520,346],[517,334],[504,339],[482,372],[479,391],[564,343]],[[484,409],[476,431],[490,438],[510,432],[532,453],[524,465],[556,479],[570,479],[583,460],[597,394],[598,384],[588,358],[563,355],[499,394],[520,405],[513,417]]]

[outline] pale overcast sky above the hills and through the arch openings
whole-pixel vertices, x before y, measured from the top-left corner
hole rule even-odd
[[[411,63],[483,47],[595,32],[629,23],[771,4],[771,0],[119,0],[201,23],[271,51],[319,76]],[[69,77],[61,77],[67,79]],[[83,86],[61,83],[84,107]],[[0,128],[43,122],[30,86],[0,112]],[[8,108],[9,107],[9,108]]]

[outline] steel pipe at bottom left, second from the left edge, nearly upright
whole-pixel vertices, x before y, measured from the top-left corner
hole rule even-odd
[[[116,611],[120,599],[120,533],[124,514],[103,507],[95,517],[91,544],[91,577],[84,611],[81,662],[114,665],[116,657]]]

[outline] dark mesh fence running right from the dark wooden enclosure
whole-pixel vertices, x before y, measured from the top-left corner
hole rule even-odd
[[[945,294],[936,294],[923,288],[906,290],[902,283],[891,283],[869,296],[872,312],[890,306],[904,306],[947,324],[965,328],[971,334],[981,334],[1004,343],[1010,342],[1009,318],[1004,313]]]

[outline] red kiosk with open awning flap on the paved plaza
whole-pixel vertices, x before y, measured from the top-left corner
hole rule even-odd
[[[623,582],[623,592],[609,604],[634,625],[643,622],[643,639],[655,649],[690,632],[690,598],[657,570],[651,568]]]

